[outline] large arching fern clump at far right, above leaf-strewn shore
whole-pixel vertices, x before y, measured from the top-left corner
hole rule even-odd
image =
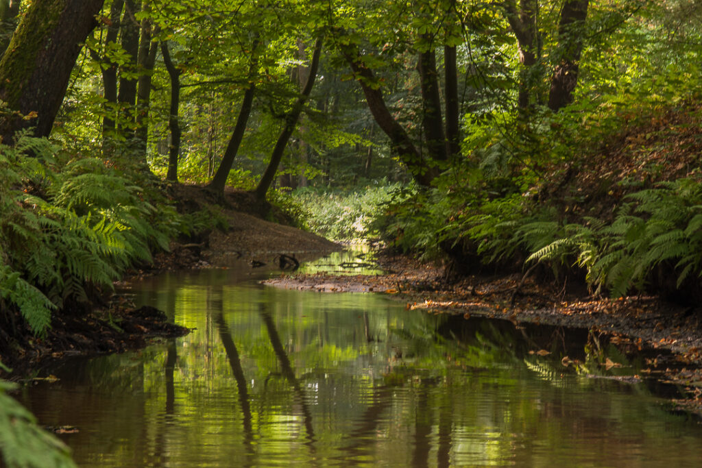
[[[588,218],[564,226],[563,234],[527,261],[562,263],[575,255],[588,282],[613,296],[642,290],[651,272],[665,264],[680,288],[692,275],[702,276],[702,184],[680,179],[635,192],[611,224]]]

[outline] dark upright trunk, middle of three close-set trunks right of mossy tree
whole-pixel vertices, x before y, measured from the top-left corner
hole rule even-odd
[[[139,32],[140,25],[135,14],[138,13],[141,6],[140,1],[124,0],[124,15],[120,24],[122,34],[122,48],[131,56],[130,62],[124,67],[126,72],[119,78],[119,91],[117,92],[117,102],[121,107],[121,121],[118,122],[117,128],[124,138],[128,139],[129,128],[133,123],[132,110],[136,102],[136,87],[137,80],[133,78],[133,72],[136,71],[137,58],[139,55]],[[126,127],[126,128],[125,128]]]

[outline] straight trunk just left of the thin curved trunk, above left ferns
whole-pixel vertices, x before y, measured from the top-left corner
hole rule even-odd
[[[145,1],[144,7],[148,4]],[[141,39],[139,43],[139,55],[137,65],[139,69],[139,79],[137,81],[136,93],[136,130],[134,138],[136,140],[135,154],[143,157],[143,162],[146,163],[147,141],[149,138],[149,104],[151,101],[151,75],[154,71],[154,63],[156,62],[156,53],[159,44],[152,41],[153,25],[150,18],[142,20]]]

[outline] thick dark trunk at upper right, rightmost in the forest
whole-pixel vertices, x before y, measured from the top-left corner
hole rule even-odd
[[[583,25],[588,17],[589,0],[566,0],[558,25],[561,57],[551,77],[548,107],[557,112],[573,102],[578,84],[580,55],[583,51]]]

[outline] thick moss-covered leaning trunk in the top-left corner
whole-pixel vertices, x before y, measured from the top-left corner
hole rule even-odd
[[[34,127],[48,136],[68,87],[81,43],[97,25],[104,0],[34,0],[0,61],[0,99],[25,116],[0,118],[0,136],[13,142],[15,131]]]

